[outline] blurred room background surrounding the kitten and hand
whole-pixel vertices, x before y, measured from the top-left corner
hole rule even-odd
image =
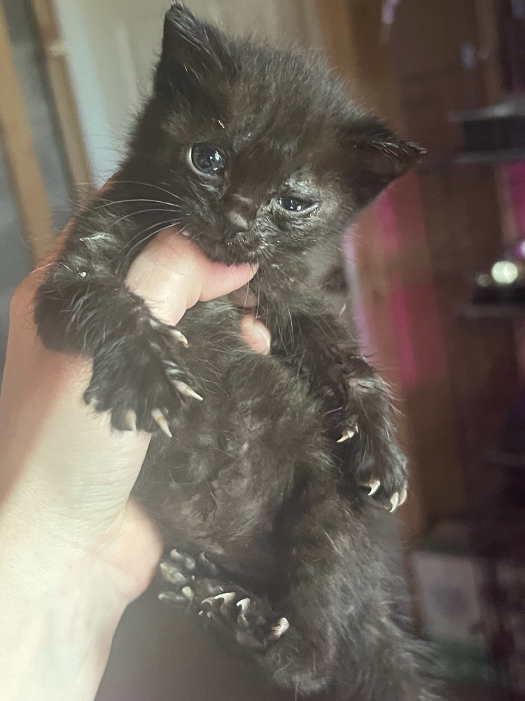
[[[399,540],[421,632],[450,697],[523,699],[525,0],[186,4],[323,51],[358,100],[428,149],[348,237],[346,287],[402,409],[413,477]],[[0,0],[0,374],[10,295],[116,169],[166,9]],[[205,639],[160,643],[167,614],[148,606],[123,622],[100,700],[151,698],[155,683],[155,699],[281,698],[249,669],[228,672],[228,651]]]

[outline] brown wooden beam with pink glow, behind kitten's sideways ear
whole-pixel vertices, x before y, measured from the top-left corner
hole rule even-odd
[[[381,0],[318,0],[318,13],[328,56],[357,83],[358,99],[364,97],[368,107],[402,129],[391,50],[381,42]],[[402,178],[379,207],[365,212],[355,250],[369,350],[381,374],[398,388],[406,414],[399,428],[414,469],[411,498],[400,514],[405,536],[414,542],[434,517],[463,505],[442,327],[416,175]]]

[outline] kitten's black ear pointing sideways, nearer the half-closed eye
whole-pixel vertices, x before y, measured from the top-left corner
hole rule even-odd
[[[344,128],[349,177],[360,206],[373,200],[393,180],[405,175],[426,150],[398,137],[373,118],[354,120]]]

